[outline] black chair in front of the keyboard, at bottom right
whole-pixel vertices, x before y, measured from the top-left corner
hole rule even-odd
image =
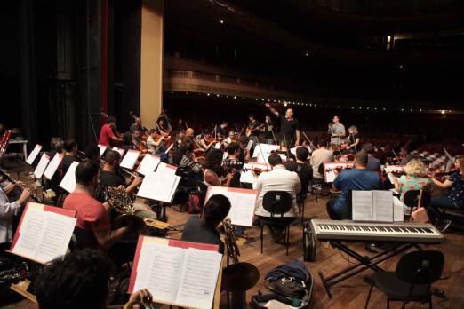
[[[405,254],[396,265],[395,272],[377,272],[364,281],[371,284],[364,309],[369,305],[372,288],[376,286],[390,301],[427,303],[432,308],[430,285],[442,275],[444,255],[440,251],[419,250]]]

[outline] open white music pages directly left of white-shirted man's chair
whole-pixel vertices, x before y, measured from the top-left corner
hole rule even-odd
[[[207,199],[212,195],[222,194],[230,201],[228,218],[234,226],[252,226],[257,192],[248,189],[231,191],[224,186],[210,186]]]

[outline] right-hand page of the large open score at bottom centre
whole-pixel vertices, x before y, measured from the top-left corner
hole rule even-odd
[[[221,258],[220,253],[215,251],[188,248],[180,276],[177,304],[201,309],[212,307]]]

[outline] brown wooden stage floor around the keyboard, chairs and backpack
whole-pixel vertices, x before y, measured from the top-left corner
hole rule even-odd
[[[9,165],[9,164],[8,164]],[[8,165],[6,168],[8,168]],[[28,168],[30,169],[30,168]],[[22,169],[21,169],[22,170]],[[16,173],[12,174],[16,177]],[[21,178],[26,178],[27,171],[21,172]],[[28,181],[30,182],[30,180]],[[305,204],[305,218],[328,218],[325,211],[325,202],[327,198],[320,198],[316,202],[315,195],[309,195]],[[171,207],[167,210],[168,222],[172,226],[182,228],[190,216],[188,213],[179,212],[178,207]],[[268,230],[265,229],[264,237],[264,253],[260,253],[260,226],[253,226],[246,230],[246,234],[251,236],[249,242],[240,246],[241,257],[240,261],[249,262],[256,265],[260,270],[260,281],[250,291],[247,292],[247,301],[250,300],[253,294],[258,293],[259,290],[266,291],[264,287],[264,276],[268,271],[277,265],[284,264],[292,258],[299,258],[302,260],[302,227],[300,219],[298,219],[291,227],[290,237],[290,250],[289,255],[285,255],[285,248],[283,245],[271,242]],[[172,238],[179,238],[179,233],[172,233]],[[356,243],[351,244],[356,250],[364,251],[364,244]],[[460,271],[464,267],[464,233],[462,231],[451,230],[445,234],[445,242],[440,245],[424,246],[428,250],[441,250],[444,252],[445,265],[442,277],[446,278],[452,273],[448,279],[437,281],[433,285],[436,289],[444,290],[447,299],[433,297],[434,307],[436,308],[462,308],[464,305],[464,271]],[[372,273],[371,270],[357,274],[355,277],[350,278],[348,281],[340,282],[332,287],[332,298],[327,297],[321,280],[317,274],[318,271],[323,271],[324,275],[330,275],[334,272],[340,271],[347,267],[354,261],[349,260],[344,253],[339,250],[333,249],[329,246],[328,242],[317,242],[316,261],[306,262],[309,271],[314,276],[314,289],[312,293],[311,303],[309,308],[363,308],[364,302],[367,297],[369,286],[364,283],[363,278],[365,275]],[[395,269],[397,258],[389,259],[380,264],[384,269]],[[459,271],[459,272],[458,272]],[[457,272],[457,273],[454,273]],[[221,307],[226,308],[225,297],[222,297]],[[0,301],[0,304],[3,303]],[[385,307],[386,299],[378,289],[372,292],[370,308]],[[0,305],[1,308],[36,308],[36,305],[31,304],[27,300],[19,300],[12,304]],[[399,303],[391,303],[392,308],[399,308]],[[421,305],[417,303],[408,304],[407,308],[422,308],[428,307],[427,304]],[[251,308],[251,306],[250,306]]]

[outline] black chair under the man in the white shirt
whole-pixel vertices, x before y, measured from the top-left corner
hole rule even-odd
[[[262,198],[262,206],[270,213],[269,217],[259,216],[261,224],[261,253],[263,247],[264,226],[272,229],[274,226],[284,227],[284,242],[288,256],[290,242],[290,225],[292,220],[284,217],[284,214],[292,209],[292,195],[285,191],[269,191]],[[285,221],[284,221],[285,219]],[[295,218],[292,218],[293,220]]]

